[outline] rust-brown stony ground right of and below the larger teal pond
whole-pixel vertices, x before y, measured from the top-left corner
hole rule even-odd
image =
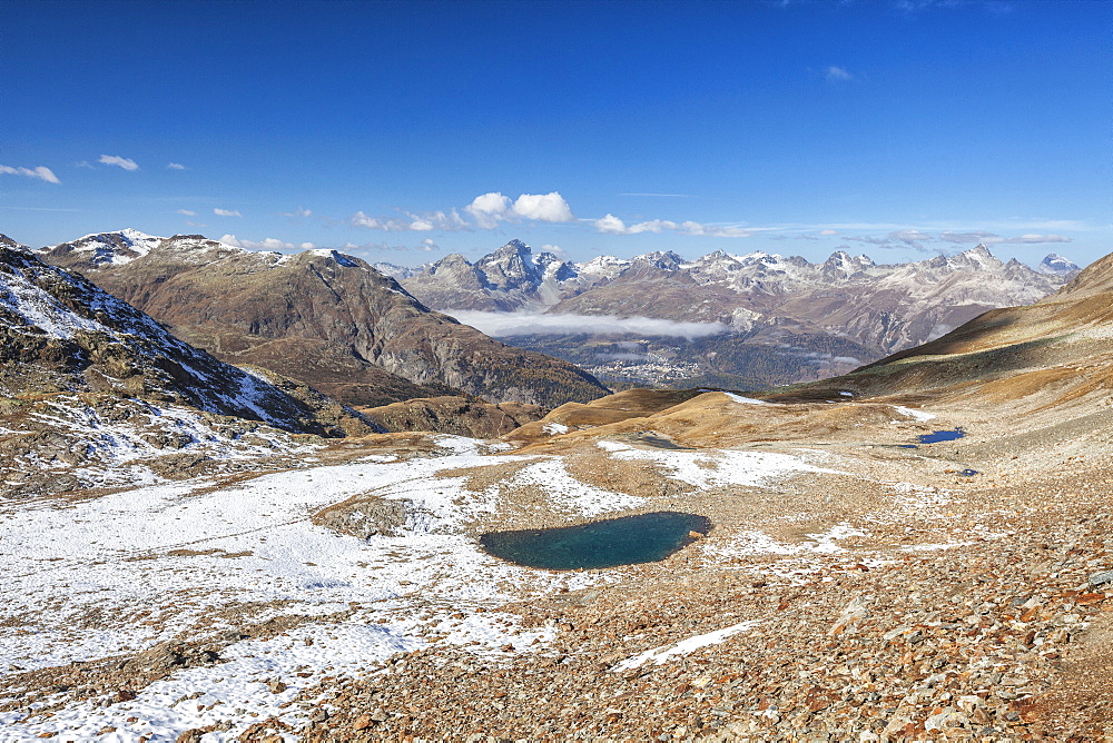
[[[288,705],[297,715],[252,721],[238,740],[1107,740],[1113,449],[1099,413],[1004,429],[956,408],[938,426],[967,436],[919,448],[897,444],[932,426],[907,420],[740,445],[810,467],[760,482],[731,481],[735,459],[713,452],[684,474],[652,457],[691,449],[607,450],[582,435],[550,445],[553,457],[446,470],[476,493],[499,491],[499,509],[470,534],[569,521],[571,501],[546,497],[528,472],[614,494],[621,513],[688,511],[716,526],[663,562],[589,571],[580,585],[590,587],[560,588],[536,571],[518,600],[456,607],[543,631],[529,648],[490,652],[430,630],[414,652],[315,680]],[[363,453],[344,444],[331,456],[345,452]],[[535,462],[562,468],[530,470]],[[207,653],[221,642],[343,620],[183,637],[87,663],[81,683],[135,690],[216,662]],[[75,674],[46,668],[19,683],[56,693]],[[178,740],[228,740],[228,727]]]

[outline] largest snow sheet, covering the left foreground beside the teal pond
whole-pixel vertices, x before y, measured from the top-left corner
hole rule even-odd
[[[43,732],[90,740],[108,725],[117,727],[114,740],[175,740],[190,727],[242,721],[206,737],[228,741],[255,720],[253,712],[302,721],[299,707],[286,704],[326,675],[355,675],[430,642],[492,655],[542,647],[552,628],[526,630],[510,615],[471,607],[614,577],[539,574],[480,551],[463,525],[498,507],[499,493],[469,491],[464,477],[440,473],[491,460],[480,454],[481,442],[443,436],[437,443],[452,453],[408,462],[373,456],[226,486],[159,484],[63,509],[48,502],[0,505],[0,620],[20,622],[18,633],[0,635],[0,675],[134,654],[180,633],[321,617],[267,642],[225,646],[227,662],[175,673],[128,702],[96,706],[58,696],[37,702],[66,702],[46,719],[0,712],[4,740]],[[534,459],[501,460],[531,462],[515,484],[543,487],[562,507],[588,515],[640,502],[578,483],[559,459]],[[414,516],[398,536],[368,539],[338,536],[309,518],[361,495],[406,499]],[[137,607],[147,618],[136,616]],[[243,614],[224,618],[229,607]],[[99,626],[80,628],[75,617],[82,616],[101,617]],[[268,681],[286,690],[272,693]]]

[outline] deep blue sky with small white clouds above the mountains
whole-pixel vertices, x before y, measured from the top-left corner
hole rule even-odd
[[[1113,3],[0,0],[0,232],[1113,250]],[[229,238],[232,239],[232,238]]]

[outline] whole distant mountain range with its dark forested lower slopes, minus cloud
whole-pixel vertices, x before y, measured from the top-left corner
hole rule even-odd
[[[553,333],[523,319],[499,335],[573,360],[609,384],[733,387],[848,371],[988,309],[1036,301],[1078,270],[1056,255],[1038,270],[1002,261],[984,245],[892,265],[843,250],[820,264],[723,251],[693,260],[667,251],[574,264],[551,252],[535,256],[520,240],[474,264],[453,255],[416,269],[380,266],[423,303],[470,323],[491,321],[476,310],[600,317],[580,324],[594,330]],[[667,329],[632,333],[609,321],[632,317],[705,324],[721,333],[678,339]]]

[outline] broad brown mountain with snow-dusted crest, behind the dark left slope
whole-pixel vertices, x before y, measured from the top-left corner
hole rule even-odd
[[[431,311],[394,279],[335,250],[284,256],[175,236],[144,255],[105,259],[104,244],[105,236],[90,236],[40,255],[85,273],[219,358],[278,367],[345,403],[462,390],[552,407],[605,394],[572,364]]]

